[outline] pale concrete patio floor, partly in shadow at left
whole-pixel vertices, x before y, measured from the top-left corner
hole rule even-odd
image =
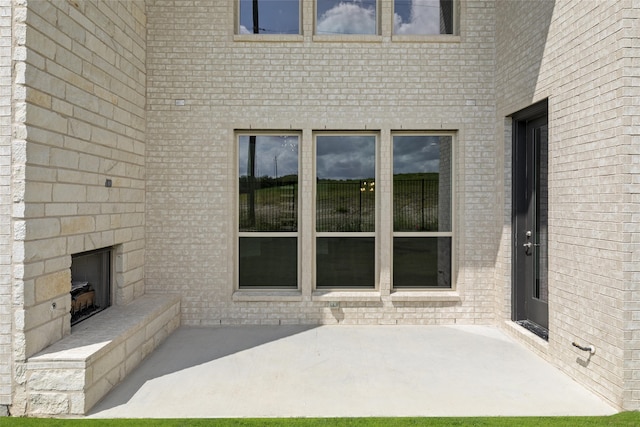
[[[91,418],[610,415],[496,328],[182,327]]]

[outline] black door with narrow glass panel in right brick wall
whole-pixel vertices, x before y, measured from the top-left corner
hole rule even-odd
[[[514,116],[513,320],[548,338],[546,103]]]

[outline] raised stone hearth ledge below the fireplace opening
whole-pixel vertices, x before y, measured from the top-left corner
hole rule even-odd
[[[83,415],[180,324],[180,297],[143,295],[71,328],[29,358],[29,412]]]

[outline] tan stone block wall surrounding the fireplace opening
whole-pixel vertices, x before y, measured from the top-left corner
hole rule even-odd
[[[14,13],[20,414],[23,363],[70,332],[72,254],[114,246],[115,303],[144,293],[146,17],[144,2],[130,0],[14,2]]]

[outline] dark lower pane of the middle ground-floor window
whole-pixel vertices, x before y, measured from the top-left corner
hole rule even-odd
[[[373,288],[373,237],[319,237],[316,240],[317,288]]]

